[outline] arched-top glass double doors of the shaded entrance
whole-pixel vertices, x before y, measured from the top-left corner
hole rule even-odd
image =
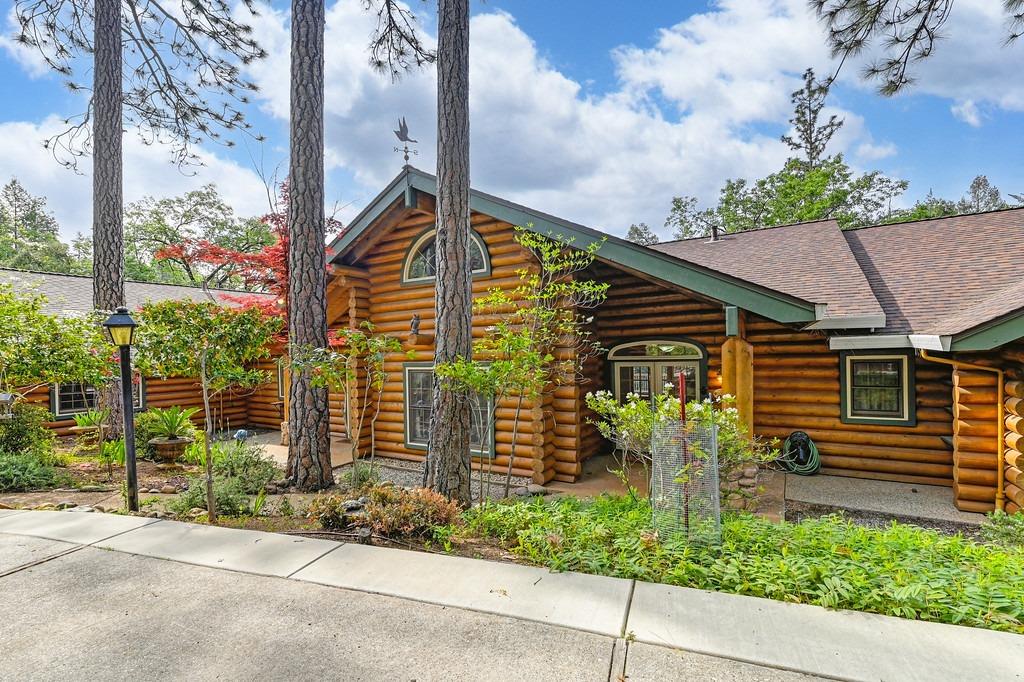
[[[653,399],[665,391],[679,390],[679,375],[686,377],[686,399],[700,399],[708,383],[708,353],[700,344],[683,340],[644,340],[622,343],[608,351],[615,397],[627,393]]]

